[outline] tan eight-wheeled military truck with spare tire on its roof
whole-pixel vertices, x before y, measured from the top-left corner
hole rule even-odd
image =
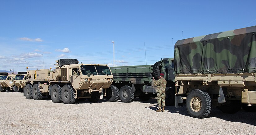
[[[75,99],[97,102],[101,93],[110,87],[113,75],[107,65],[78,64],[77,59],[59,59],[55,70],[28,72],[24,95],[40,100],[50,95],[52,102],[73,104]]]

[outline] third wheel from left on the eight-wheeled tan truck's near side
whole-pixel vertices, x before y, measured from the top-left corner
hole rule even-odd
[[[61,86],[59,85],[53,85],[51,89],[51,99],[54,103],[60,103],[62,102],[61,99]]]

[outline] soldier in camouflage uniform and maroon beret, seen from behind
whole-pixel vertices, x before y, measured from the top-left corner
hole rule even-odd
[[[164,112],[164,107],[165,107],[165,87],[166,87],[166,80],[164,79],[164,74],[160,73],[160,79],[155,81],[153,77],[153,85],[156,86],[156,100],[157,100],[157,105],[159,109],[156,112],[161,112],[161,107],[162,107],[162,112]]]

